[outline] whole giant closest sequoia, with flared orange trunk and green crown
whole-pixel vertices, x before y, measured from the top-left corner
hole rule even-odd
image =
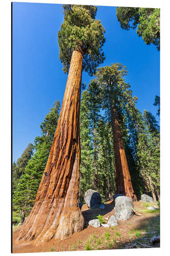
[[[51,152],[35,204],[18,240],[64,238],[84,227],[78,206],[80,169],[80,95],[84,69],[90,75],[104,60],[104,28],[96,7],[64,5],[58,32],[60,59],[68,72],[66,89]]]

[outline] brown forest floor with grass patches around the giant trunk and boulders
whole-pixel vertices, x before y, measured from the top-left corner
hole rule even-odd
[[[127,221],[118,221],[114,227],[94,228],[88,225],[96,216],[103,215],[109,218],[114,215],[113,200],[105,202],[105,208],[88,209],[82,206],[82,214],[85,219],[85,228],[70,236],[69,239],[51,240],[36,244],[36,241],[16,242],[21,226],[15,226],[13,230],[13,253],[21,252],[49,252],[49,251],[81,251],[81,250],[105,250],[124,248],[150,248],[160,247],[157,243],[152,245],[150,239],[160,234],[160,210],[149,210],[148,206],[155,204],[134,202],[134,209],[142,216],[133,215]],[[107,220],[106,220],[107,223]]]

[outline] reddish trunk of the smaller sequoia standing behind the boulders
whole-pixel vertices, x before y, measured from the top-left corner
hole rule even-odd
[[[129,173],[128,163],[125,154],[125,148],[122,139],[122,132],[117,116],[117,111],[113,105],[113,100],[110,97],[110,112],[111,123],[114,141],[114,156],[115,156],[115,169],[116,169],[116,193],[123,194],[131,200],[136,201],[134,194],[131,177]]]

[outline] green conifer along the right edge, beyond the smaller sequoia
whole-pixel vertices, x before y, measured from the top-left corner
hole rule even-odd
[[[137,156],[141,173],[151,191],[154,201],[160,200],[160,138],[155,117],[148,111],[143,113],[143,128],[138,135]]]

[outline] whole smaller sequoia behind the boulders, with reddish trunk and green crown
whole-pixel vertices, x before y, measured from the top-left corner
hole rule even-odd
[[[109,109],[114,141],[114,156],[116,169],[116,191],[124,194],[132,200],[136,200],[134,194],[126,153],[123,143],[122,129],[120,126],[121,112],[129,105],[134,105],[136,98],[132,98],[129,84],[124,80],[127,74],[126,67],[115,63],[110,67],[98,68],[96,81],[103,90],[104,108]]]

